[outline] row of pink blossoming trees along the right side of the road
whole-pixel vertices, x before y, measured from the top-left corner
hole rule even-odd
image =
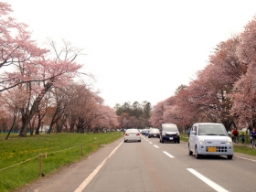
[[[223,123],[232,127],[256,126],[256,16],[240,35],[220,42],[205,69],[189,85],[158,102],[151,123],[177,123],[188,128],[195,122]]]

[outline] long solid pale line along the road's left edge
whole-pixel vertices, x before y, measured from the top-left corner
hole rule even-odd
[[[121,142],[121,144],[123,144],[123,142]],[[100,165],[98,165],[98,167],[96,169],[94,169],[94,171],[91,173],[90,176],[88,176],[81,184],[80,187],[78,187],[74,192],[81,192],[85,187],[87,187],[87,185],[91,182],[92,178],[94,176],[96,176],[96,174],[100,171],[101,167],[107,162],[107,160],[114,154],[114,152],[121,146],[121,144],[119,144],[117,147],[114,148],[114,150],[112,150],[112,153],[110,155],[108,155],[102,162]]]

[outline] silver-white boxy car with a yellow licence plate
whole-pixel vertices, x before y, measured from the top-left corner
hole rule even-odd
[[[233,158],[234,148],[225,127],[221,123],[195,123],[188,139],[188,155],[227,155]]]

